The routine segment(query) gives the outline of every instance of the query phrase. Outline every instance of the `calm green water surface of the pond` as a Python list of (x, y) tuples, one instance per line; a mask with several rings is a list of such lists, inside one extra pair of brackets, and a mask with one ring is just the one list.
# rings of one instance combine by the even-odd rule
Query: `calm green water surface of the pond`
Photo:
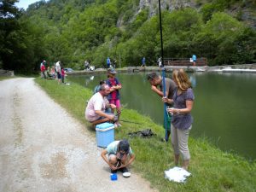
[[(171, 73), (166, 74), (171, 77)], [(218, 148), (234, 151), (247, 159), (256, 158), (256, 74), (191, 73), (194, 84), (193, 137), (208, 137)], [(121, 103), (163, 122), (163, 104), (146, 79), (146, 73), (117, 74), (122, 84)], [(106, 74), (68, 76), (94, 89)]]

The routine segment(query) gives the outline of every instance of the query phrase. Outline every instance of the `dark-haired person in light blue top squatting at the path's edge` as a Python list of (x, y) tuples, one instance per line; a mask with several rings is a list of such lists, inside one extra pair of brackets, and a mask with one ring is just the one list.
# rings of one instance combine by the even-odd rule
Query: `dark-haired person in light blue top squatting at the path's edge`
[(108, 147), (102, 151), (102, 158), (108, 163), (111, 173), (116, 173), (118, 170), (128, 172), (127, 166), (135, 160), (135, 154), (133, 154), (129, 142), (123, 139), (108, 144)]

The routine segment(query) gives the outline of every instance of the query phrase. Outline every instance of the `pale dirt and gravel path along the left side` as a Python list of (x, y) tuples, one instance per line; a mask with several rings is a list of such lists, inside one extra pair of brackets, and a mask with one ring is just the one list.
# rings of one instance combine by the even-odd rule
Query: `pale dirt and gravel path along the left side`
[(0, 191), (153, 191), (132, 174), (109, 178), (102, 148), (33, 79), (0, 81)]

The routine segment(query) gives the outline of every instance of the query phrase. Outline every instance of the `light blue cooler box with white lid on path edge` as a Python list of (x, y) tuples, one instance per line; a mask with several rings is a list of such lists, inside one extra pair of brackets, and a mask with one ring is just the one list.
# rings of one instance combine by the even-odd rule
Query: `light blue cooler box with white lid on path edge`
[(114, 141), (114, 125), (110, 123), (96, 125), (96, 141), (98, 147), (107, 148), (108, 144)]

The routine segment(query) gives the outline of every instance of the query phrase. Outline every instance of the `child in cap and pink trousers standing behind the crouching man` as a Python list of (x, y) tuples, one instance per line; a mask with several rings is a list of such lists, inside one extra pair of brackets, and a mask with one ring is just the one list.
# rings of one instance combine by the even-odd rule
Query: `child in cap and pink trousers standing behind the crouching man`
[[(110, 87), (110, 94), (108, 95), (108, 101), (111, 104), (116, 106), (116, 111), (118, 114), (118, 119), (121, 113), (121, 104), (120, 104), (120, 95), (119, 90), (122, 89), (122, 84), (120, 84), (119, 80), (115, 78), (116, 71), (114, 69), (108, 69), (108, 80), (107, 84)], [(114, 108), (112, 109), (112, 113), (114, 113)], [(117, 126), (121, 126), (119, 121), (116, 122)]]

